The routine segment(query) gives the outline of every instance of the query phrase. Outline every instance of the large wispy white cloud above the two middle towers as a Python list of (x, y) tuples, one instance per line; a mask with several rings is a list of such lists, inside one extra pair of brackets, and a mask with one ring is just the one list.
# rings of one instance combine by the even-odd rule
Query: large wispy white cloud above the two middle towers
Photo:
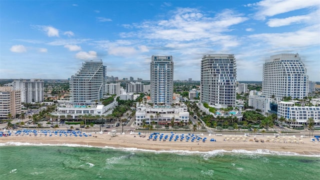
[[(132, 26), (141, 29), (138, 34), (141, 38), (191, 41), (224, 36), (222, 33), (231, 31), (231, 26), (248, 19), (242, 17), (243, 14), (230, 9), (223, 9), (214, 17), (207, 17), (194, 8), (177, 8), (172, 13), (171, 18), (167, 20), (144, 21), (141, 24), (132, 24)], [(125, 26), (128, 27), (127, 24)], [(128, 32), (120, 35), (130, 37), (135, 34)]]

